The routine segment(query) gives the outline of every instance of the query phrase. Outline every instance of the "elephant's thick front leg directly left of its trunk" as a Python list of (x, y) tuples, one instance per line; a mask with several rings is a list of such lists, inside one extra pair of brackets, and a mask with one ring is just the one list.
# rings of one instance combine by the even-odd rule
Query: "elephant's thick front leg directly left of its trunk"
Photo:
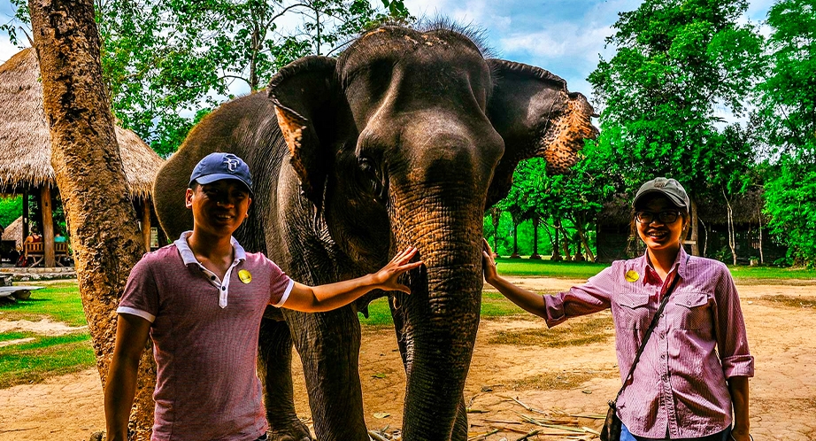
[(303, 360), (315, 435), (320, 441), (368, 441), (357, 313), (350, 307), (328, 313), (283, 313)]

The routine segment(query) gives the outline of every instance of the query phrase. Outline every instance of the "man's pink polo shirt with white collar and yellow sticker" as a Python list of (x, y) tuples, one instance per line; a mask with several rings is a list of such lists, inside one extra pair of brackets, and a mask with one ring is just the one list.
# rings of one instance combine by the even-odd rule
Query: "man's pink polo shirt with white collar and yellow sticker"
[(151, 322), (158, 367), (151, 439), (255, 440), (267, 429), (258, 327), (266, 306), (282, 306), (294, 282), (235, 239), (235, 261), (221, 281), (196, 260), (189, 234), (144, 255), (117, 310)]

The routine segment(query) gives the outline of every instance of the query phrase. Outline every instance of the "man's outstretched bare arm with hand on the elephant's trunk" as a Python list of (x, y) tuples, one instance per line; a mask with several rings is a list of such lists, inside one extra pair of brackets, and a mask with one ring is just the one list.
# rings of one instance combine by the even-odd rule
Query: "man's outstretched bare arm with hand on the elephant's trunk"
[(396, 290), (411, 294), (411, 290), (396, 282), (396, 278), (422, 265), (421, 260), (408, 263), (416, 253), (417, 249), (413, 247), (397, 253), (388, 265), (373, 275), (314, 287), (295, 282), (282, 307), (304, 313), (319, 313), (346, 306), (370, 290)]

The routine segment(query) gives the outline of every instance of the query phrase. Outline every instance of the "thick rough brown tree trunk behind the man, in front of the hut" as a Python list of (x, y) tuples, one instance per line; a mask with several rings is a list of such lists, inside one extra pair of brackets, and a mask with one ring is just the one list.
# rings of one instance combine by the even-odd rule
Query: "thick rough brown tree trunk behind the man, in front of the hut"
[[(127, 194), (111, 104), (102, 78), (92, 0), (30, 0), (40, 61), (51, 165), (71, 228), (82, 307), (104, 383), (113, 352), (116, 307), (142, 237)], [(148, 439), (155, 383), (151, 353), (142, 355), (131, 439)]]

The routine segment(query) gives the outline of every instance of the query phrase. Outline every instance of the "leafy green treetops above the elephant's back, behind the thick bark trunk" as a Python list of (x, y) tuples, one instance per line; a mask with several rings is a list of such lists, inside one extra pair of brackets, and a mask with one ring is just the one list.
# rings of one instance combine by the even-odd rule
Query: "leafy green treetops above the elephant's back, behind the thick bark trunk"
[[(12, 0), (28, 22), (25, 0)], [(402, 0), (96, 0), (103, 36), (104, 78), (113, 111), (161, 155), (175, 151), (188, 131), (235, 81), (251, 91), (282, 66), (310, 54), (334, 54), (366, 27), (412, 19)], [(280, 22), (297, 14), (294, 29)], [(0, 27), (16, 41), (15, 27)]]

